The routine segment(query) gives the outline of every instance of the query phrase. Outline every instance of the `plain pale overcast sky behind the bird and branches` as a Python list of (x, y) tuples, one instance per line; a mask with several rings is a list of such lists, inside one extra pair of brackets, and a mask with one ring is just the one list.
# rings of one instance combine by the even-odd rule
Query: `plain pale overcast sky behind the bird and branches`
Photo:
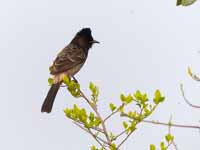
[[(175, 0), (7, 0), (0, 5), (1, 109), (0, 149), (80, 150), (95, 141), (64, 116), (75, 100), (64, 88), (53, 112), (42, 114), (49, 89), (48, 67), (77, 31), (91, 27), (101, 44), (95, 45), (77, 74), (86, 94), (93, 81), (100, 87), (100, 111), (119, 103), (120, 93), (137, 89), (150, 96), (160, 89), (166, 96), (152, 120), (199, 125), (200, 110), (190, 108), (186, 95), (200, 105), (200, 86), (186, 73), (200, 72), (200, 2), (176, 7)], [(110, 129), (121, 125), (113, 120)], [(122, 149), (147, 150), (167, 133), (166, 127), (143, 124)], [(200, 132), (173, 129), (180, 150), (198, 149)]]

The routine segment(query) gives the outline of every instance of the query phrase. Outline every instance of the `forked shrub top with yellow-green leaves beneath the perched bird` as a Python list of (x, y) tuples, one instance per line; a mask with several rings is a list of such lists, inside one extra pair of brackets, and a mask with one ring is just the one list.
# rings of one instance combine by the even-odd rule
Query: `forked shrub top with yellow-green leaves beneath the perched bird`
[[(92, 146), (91, 150), (119, 150), (121, 145), (128, 139), (128, 137), (137, 129), (138, 123), (141, 123), (145, 118), (149, 117), (156, 107), (164, 101), (164, 97), (159, 90), (154, 93), (153, 100), (150, 101), (146, 93), (136, 91), (129, 95), (120, 95), (120, 106), (116, 106), (112, 102), (109, 103), (111, 113), (103, 118), (97, 108), (99, 89), (93, 83), (89, 84), (91, 97), (87, 98), (80, 90), (80, 85), (69, 79), (64, 79), (64, 84), (67, 86), (68, 91), (75, 97), (82, 97), (85, 102), (91, 107), (93, 112), (88, 112), (85, 108), (80, 108), (74, 104), (73, 108), (66, 108), (65, 115), (73, 120), (81, 129), (87, 131), (101, 146), (100, 149)], [(129, 109), (133, 104), (133, 108)], [(120, 114), (120, 117), (127, 117), (128, 121), (123, 121), (123, 130), (121, 133), (113, 133), (107, 130), (107, 123), (112, 116)], [(112, 122), (111, 122), (112, 123)], [(119, 137), (122, 137), (119, 140)], [(114, 141), (116, 143), (114, 143)]]

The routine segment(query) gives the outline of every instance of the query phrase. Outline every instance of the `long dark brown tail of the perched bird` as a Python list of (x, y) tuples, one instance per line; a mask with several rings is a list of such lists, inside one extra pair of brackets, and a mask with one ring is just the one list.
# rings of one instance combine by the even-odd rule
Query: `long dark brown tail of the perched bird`
[(45, 98), (44, 103), (42, 104), (41, 112), (46, 112), (46, 113), (51, 112), (54, 100), (56, 98), (56, 94), (58, 93), (61, 83), (62, 82), (52, 84), (47, 94), (47, 97)]

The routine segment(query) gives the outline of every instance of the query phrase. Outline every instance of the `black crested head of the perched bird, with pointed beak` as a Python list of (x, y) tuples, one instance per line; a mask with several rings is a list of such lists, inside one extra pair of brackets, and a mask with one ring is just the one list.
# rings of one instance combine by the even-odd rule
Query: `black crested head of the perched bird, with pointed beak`
[(90, 28), (83, 28), (76, 34), (71, 43), (77, 44), (85, 50), (89, 50), (94, 43), (99, 42), (93, 39)]

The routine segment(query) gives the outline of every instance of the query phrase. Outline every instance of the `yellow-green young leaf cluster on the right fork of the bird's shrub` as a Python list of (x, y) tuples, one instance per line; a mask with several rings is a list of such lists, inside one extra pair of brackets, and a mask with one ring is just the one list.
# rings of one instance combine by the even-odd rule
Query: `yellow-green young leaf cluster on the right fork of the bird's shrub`
[[(122, 103), (125, 103), (126, 106), (135, 102), (136, 106), (139, 109), (132, 109), (128, 112), (121, 112), (121, 116), (128, 117), (128, 121), (123, 122), (123, 127), (126, 130), (126, 133), (129, 134), (136, 129), (136, 125), (142, 122), (145, 118), (149, 117), (155, 108), (164, 101), (164, 97), (161, 95), (159, 90), (156, 90), (154, 93), (153, 104), (149, 102), (149, 98), (146, 93), (141, 91), (136, 91), (134, 94), (129, 94), (128, 96), (121, 95)], [(135, 107), (134, 107), (135, 108)]]

